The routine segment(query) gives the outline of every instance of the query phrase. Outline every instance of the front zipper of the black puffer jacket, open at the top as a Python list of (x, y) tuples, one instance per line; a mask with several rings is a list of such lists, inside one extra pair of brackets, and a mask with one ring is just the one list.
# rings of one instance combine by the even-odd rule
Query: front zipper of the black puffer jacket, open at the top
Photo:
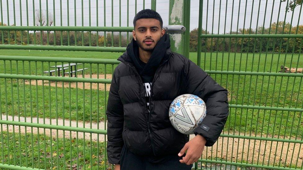
[[(153, 78), (153, 81), (152, 81), (152, 87), (153, 87), (153, 84), (154, 84), (156, 78), (158, 77), (158, 73), (160, 72), (160, 69), (162, 68), (162, 65), (163, 65), (166, 61), (168, 61), (169, 59), (170, 59), (170, 57), (169, 57), (167, 60), (165, 60), (162, 64), (159, 65), (158, 69), (157, 69), (156, 72), (155, 72), (155, 76), (154, 76), (154, 78)], [(124, 63), (124, 62), (123, 62), (123, 63)], [(126, 63), (126, 62), (125, 62), (125, 64), (128, 65), (130, 68), (132, 68), (132, 69), (134, 70), (134, 72), (136, 73), (136, 75), (139, 77), (139, 80), (140, 80), (140, 83), (141, 83), (141, 92), (142, 92), (143, 81), (142, 81), (141, 76), (140, 76), (139, 73), (137, 72), (136, 68), (134, 68), (133, 66), (129, 65), (129, 64)], [(151, 95), (150, 95), (149, 101), (148, 101), (149, 104), (151, 104), (151, 97), (152, 97), (152, 88), (151, 88)], [(144, 104), (145, 104), (144, 109), (145, 109), (145, 111), (146, 111), (146, 110), (148, 111), (147, 105), (146, 105), (147, 101), (146, 101), (145, 97), (143, 97), (143, 99), (144, 99), (144, 101), (145, 101), (145, 103), (144, 103)], [(152, 133), (151, 133), (151, 129), (150, 129), (150, 119), (151, 119), (151, 112), (149, 111), (149, 113), (148, 113), (148, 118), (147, 118), (147, 129), (148, 129), (149, 138), (151, 139), (152, 152), (153, 152), (154, 155), (156, 155), (156, 153), (155, 153), (154, 141), (153, 141)]]

